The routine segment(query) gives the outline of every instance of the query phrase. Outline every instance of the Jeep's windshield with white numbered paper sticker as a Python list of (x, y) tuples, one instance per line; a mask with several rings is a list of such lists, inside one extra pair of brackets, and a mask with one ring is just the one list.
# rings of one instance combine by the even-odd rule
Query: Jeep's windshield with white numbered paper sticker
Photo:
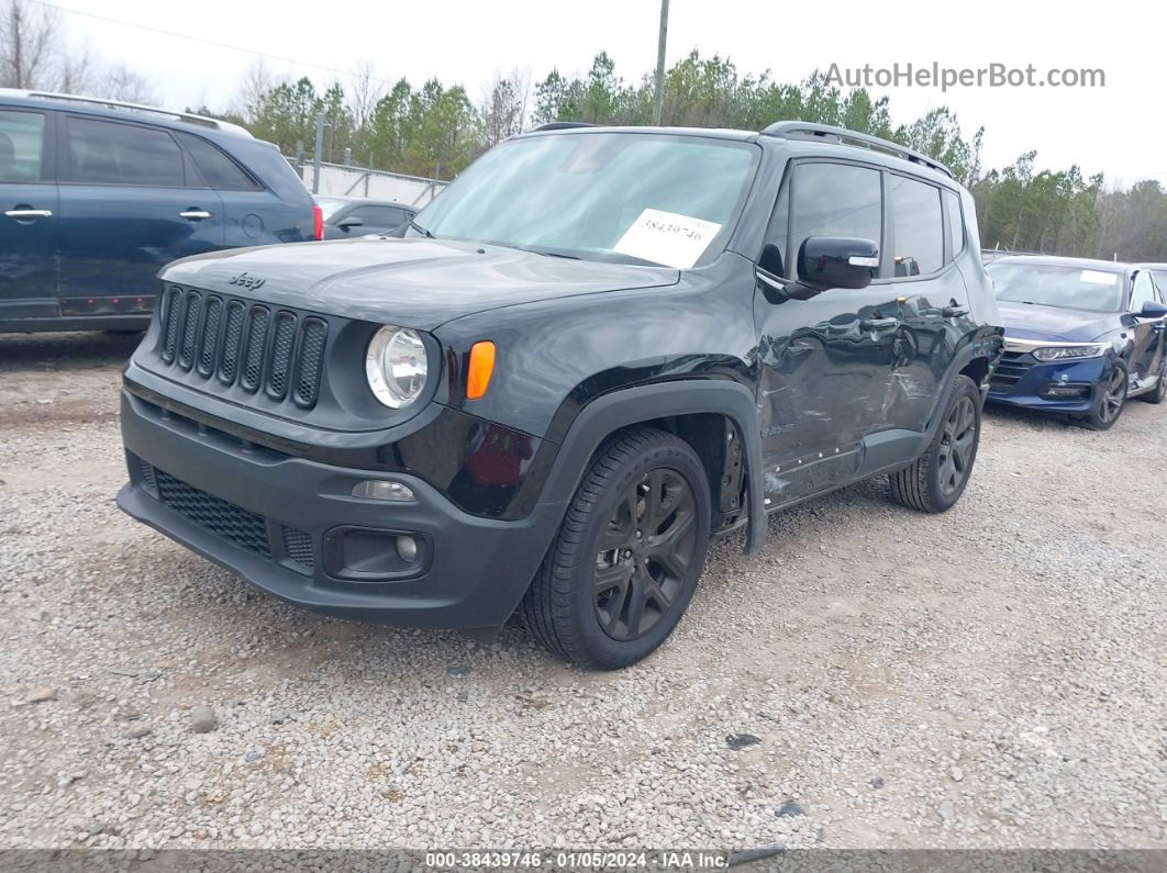
[(725, 247), (757, 155), (745, 142), (696, 136), (512, 140), (476, 161), (417, 223), (439, 238), (687, 268)]

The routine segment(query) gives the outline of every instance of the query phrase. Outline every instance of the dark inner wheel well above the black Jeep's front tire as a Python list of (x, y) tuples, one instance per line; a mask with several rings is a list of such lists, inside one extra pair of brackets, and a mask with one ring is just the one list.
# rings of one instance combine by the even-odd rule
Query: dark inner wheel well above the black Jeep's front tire
[(701, 459), (710, 483), (714, 529), (738, 520), (745, 511), (747, 462), (741, 431), (729, 416), (721, 413), (692, 413), (636, 422), (609, 434), (596, 453), (613, 439), (637, 428), (664, 430), (689, 443)]

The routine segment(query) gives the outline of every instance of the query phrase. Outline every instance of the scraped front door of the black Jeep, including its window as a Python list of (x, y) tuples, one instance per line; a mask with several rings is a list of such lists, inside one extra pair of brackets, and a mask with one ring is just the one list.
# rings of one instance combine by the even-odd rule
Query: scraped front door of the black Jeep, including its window
[[(882, 228), (879, 170), (798, 163), (783, 183), (759, 266), (792, 279), (789, 261), (808, 237), (880, 244)], [(861, 469), (864, 438), (888, 427), (900, 312), (892, 283), (832, 288), (809, 300), (766, 282), (759, 288), (760, 411), (767, 498), (775, 506), (834, 487)]]

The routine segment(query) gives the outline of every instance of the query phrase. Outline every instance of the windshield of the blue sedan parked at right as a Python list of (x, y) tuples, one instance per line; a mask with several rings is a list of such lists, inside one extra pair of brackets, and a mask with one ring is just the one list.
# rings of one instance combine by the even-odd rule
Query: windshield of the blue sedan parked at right
[(990, 263), (997, 300), (1042, 307), (1117, 312), (1123, 305), (1123, 275), (1049, 263)]

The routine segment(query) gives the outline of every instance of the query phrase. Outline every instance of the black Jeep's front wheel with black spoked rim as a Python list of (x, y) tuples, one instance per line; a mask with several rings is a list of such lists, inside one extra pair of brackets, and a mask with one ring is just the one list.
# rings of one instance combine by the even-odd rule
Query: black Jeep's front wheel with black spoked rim
[(705, 467), (651, 428), (602, 448), (523, 598), (548, 652), (613, 670), (648, 656), (689, 607), (710, 542)]

